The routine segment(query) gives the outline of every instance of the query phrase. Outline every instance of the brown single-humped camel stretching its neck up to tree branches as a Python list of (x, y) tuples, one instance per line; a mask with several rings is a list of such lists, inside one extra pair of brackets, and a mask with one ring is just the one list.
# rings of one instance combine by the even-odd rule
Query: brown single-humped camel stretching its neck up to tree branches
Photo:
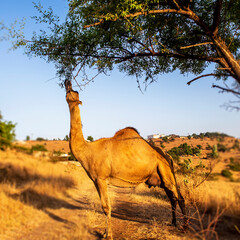
[(112, 138), (86, 142), (82, 133), (78, 92), (72, 90), (70, 81), (65, 82), (65, 87), (71, 122), (70, 148), (98, 191), (107, 218), (107, 239), (112, 239), (108, 184), (129, 187), (146, 183), (149, 187), (164, 188), (172, 205), (172, 224), (176, 225), (177, 203), (184, 217), (186, 214), (170, 157), (161, 149), (152, 147), (130, 127), (118, 131)]

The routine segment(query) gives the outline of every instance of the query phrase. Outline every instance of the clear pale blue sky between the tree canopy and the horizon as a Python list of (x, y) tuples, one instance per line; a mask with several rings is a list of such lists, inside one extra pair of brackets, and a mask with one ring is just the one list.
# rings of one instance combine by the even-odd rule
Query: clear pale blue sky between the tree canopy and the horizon
[[(66, 0), (44, 0), (64, 17)], [(9, 24), (27, 18), (28, 36), (38, 28), (30, 16), (36, 14), (32, 0), (2, 1), (0, 21)], [(0, 32), (1, 34), (1, 32)], [(23, 50), (9, 51), (10, 43), (0, 42), (0, 111), (4, 120), (17, 123), (17, 139), (64, 138), (69, 133), (69, 111), (65, 90), (58, 86), (55, 68), (43, 59), (28, 58)], [(206, 73), (210, 73), (207, 69)], [(136, 80), (115, 69), (98, 76), (80, 92), (85, 137), (110, 137), (126, 126), (138, 129), (143, 137), (153, 133), (188, 135), (223, 132), (240, 137), (240, 113), (221, 107), (234, 100), (230, 94), (211, 88), (213, 78), (188, 86), (195, 76), (178, 72), (159, 75), (143, 94)], [(78, 79), (80, 81), (80, 79)], [(220, 84), (220, 82), (219, 82)], [(76, 90), (78, 90), (76, 88)]]

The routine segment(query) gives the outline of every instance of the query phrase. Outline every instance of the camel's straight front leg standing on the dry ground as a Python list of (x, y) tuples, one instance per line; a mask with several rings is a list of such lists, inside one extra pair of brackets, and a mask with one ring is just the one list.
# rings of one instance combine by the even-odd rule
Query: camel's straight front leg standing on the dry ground
[(111, 225), (111, 204), (108, 196), (108, 188), (106, 180), (97, 179), (95, 181), (103, 211), (107, 218), (106, 238), (112, 240), (112, 225)]

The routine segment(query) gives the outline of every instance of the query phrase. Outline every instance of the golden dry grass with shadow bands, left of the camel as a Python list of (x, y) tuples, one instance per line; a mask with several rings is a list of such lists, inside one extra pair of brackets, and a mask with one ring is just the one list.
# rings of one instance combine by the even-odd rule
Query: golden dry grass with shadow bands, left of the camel
[[(82, 181), (76, 177), (76, 171), (75, 165), (53, 164), (23, 153), (0, 151), (0, 239), (16, 239), (41, 226), (43, 221), (50, 221), (49, 209), (74, 208), (67, 196)], [(75, 235), (86, 235), (86, 230), (82, 230), (80, 222), (73, 226), (71, 237), (60, 239), (77, 239)], [(59, 234), (46, 239), (59, 239)]]

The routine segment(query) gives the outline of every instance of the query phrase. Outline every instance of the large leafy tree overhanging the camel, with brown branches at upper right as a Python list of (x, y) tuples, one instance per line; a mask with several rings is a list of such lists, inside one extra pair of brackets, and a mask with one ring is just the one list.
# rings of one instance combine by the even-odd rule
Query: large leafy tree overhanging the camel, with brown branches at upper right
[[(49, 29), (31, 41), (19, 38), (17, 45), (55, 62), (63, 79), (85, 74), (87, 67), (106, 73), (117, 65), (148, 85), (179, 69), (198, 75), (188, 84), (232, 78), (232, 86), (224, 81), (213, 87), (233, 93), (240, 109), (239, 0), (69, 0), (63, 23), (52, 9), (35, 7), (41, 14), (36, 21)], [(202, 74), (210, 63), (214, 72)]]

